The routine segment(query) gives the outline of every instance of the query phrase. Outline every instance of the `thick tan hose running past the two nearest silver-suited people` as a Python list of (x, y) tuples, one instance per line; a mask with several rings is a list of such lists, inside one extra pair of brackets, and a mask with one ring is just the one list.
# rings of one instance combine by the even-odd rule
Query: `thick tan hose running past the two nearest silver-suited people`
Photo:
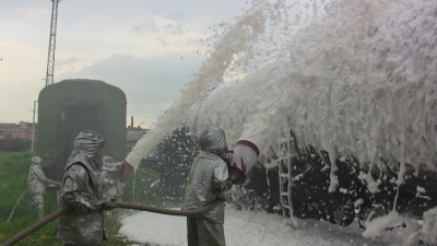
[[(122, 209), (133, 209), (133, 210), (140, 210), (140, 211), (149, 211), (149, 212), (154, 212), (154, 213), (162, 213), (162, 214), (168, 214), (168, 215), (176, 215), (176, 216), (196, 216), (203, 214), (210, 210), (212, 210), (215, 206), (217, 206), (221, 201), (215, 200), (211, 202), (210, 204), (197, 209), (197, 210), (174, 210), (174, 209), (162, 209), (162, 208), (156, 208), (152, 206), (145, 206), (145, 204), (135, 204), (135, 203), (129, 203), (129, 202), (119, 202), (119, 201), (106, 201), (104, 202), (105, 204), (108, 206), (116, 206), (117, 208), (122, 208)], [(10, 246), (13, 245), (24, 237), (31, 235), (32, 233), (36, 232), (38, 229), (43, 227), (47, 223), (54, 221), (55, 219), (61, 216), (62, 214), (67, 213), (69, 211), (68, 208), (61, 208), (58, 211), (43, 218), (40, 221), (36, 222), (35, 224), (31, 225), (26, 230), (22, 231), (21, 233), (16, 234), (9, 241), (4, 242), (1, 246)]]

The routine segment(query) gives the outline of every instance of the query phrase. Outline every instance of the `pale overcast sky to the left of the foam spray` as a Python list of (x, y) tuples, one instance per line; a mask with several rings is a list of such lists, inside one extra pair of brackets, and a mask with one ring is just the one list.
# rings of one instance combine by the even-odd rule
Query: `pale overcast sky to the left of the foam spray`
[[(63, 0), (55, 82), (96, 79), (120, 87), (134, 125), (149, 128), (205, 59), (213, 25), (244, 0)], [(45, 86), (50, 0), (0, 1), (0, 122), (33, 121)], [(203, 42), (202, 42), (203, 40)]]

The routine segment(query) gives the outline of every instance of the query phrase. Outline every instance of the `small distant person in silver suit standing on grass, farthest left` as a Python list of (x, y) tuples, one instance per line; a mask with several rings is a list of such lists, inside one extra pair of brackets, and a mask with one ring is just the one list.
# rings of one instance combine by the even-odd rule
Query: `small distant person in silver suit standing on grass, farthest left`
[(39, 156), (33, 156), (27, 175), (27, 192), (31, 197), (31, 208), (37, 209), (39, 220), (44, 218), (44, 195), (46, 194), (46, 186), (56, 184), (54, 180), (46, 178), (43, 167), (40, 166), (42, 161)]

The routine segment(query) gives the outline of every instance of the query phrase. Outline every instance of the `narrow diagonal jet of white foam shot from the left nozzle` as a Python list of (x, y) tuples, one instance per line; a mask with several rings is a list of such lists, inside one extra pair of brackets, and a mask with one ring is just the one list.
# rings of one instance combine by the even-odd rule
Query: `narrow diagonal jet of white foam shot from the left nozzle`
[[(214, 45), (214, 50), (193, 79), (187, 83), (181, 95), (170, 108), (160, 116), (156, 125), (145, 134), (128, 154), (126, 161), (134, 168), (163, 138), (176, 127), (187, 120), (187, 114), (197, 108), (200, 102), (205, 101), (209, 92), (226, 81), (226, 74), (237, 62), (237, 54), (246, 54), (251, 50), (259, 35), (265, 28), (268, 16), (263, 15), (263, 1), (253, 1), (253, 5), (247, 10), (234, 25)], [(252, 51), (251, 51), (252, 52)], [(241, 62), (241, 61), (238, 61)]]

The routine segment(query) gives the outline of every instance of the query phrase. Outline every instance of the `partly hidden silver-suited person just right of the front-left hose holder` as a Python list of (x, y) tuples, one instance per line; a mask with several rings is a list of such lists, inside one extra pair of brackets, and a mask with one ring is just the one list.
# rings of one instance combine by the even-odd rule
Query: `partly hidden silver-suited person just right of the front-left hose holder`
[(117, 167), (121, 165), (121, 163), (115, 163), (111, 156), (104, 156), (102, 162), (103, 197), (105, 200), (121, 201), (123, 188), (117, 175)]

